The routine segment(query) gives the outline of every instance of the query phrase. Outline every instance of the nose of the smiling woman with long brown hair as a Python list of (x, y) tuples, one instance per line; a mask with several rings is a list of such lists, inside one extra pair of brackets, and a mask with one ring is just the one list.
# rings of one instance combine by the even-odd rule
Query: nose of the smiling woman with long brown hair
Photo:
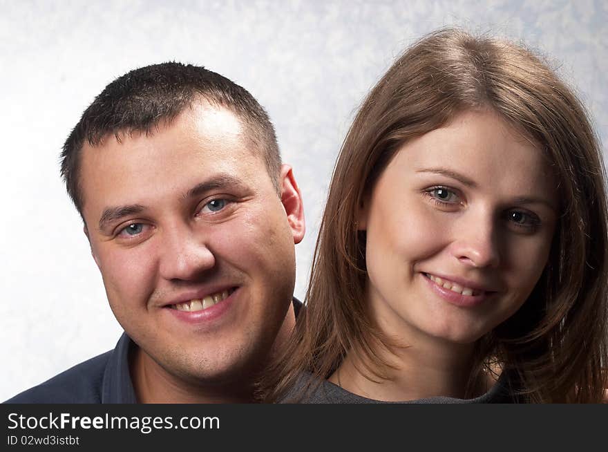
[(453, 229), (453, 256), (471, 267), (497, 267), (500, 264), (498, 227), (489, 211), (467, 212)]

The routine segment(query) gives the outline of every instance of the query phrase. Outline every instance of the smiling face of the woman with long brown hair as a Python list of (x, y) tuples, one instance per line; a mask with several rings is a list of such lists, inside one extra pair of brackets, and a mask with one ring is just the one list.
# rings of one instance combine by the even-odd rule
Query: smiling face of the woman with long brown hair
[(489, 111), (401, 147), (359, 214), (372, 315), (406, 343), (471, 343), (526, 301), (547, 263), (557, 185)]

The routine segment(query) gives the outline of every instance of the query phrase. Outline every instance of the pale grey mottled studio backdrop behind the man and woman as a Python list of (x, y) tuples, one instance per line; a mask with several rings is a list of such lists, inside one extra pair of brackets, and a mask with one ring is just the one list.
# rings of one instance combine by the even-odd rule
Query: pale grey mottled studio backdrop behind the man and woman
[(178, 60), (258, 98), (303, 191), (302, 297), (327, 182), (363, 95), (406, 45), (450, 24), (542, 50), (608, 140), (605, 0), (0, 0), (0, 400), (120, 335), (58, 170), (61, 144), (108, 82)]

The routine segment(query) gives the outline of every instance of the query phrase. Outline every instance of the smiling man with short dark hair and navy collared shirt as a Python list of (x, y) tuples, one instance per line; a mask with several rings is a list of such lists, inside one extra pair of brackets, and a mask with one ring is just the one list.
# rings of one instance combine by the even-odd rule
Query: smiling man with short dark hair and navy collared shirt
[(253, 401), (294, 326), (305, 229), (264, 109), (205, 68), (147, 66), (95, 98), (62, 159), (125, 334), (8, 402)]

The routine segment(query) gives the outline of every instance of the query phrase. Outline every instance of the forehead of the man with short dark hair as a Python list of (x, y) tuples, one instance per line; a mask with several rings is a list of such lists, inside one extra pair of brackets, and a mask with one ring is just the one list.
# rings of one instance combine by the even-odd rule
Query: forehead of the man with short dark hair
[[(120, 198), (129, 192), (161, 191), (154, 187), (155, 180), (156, 185), (189, 189), (216, 173), (230, 174), (234, 182), (247, 181), (260, 169), (265, 170), (259, 153), (251, 151), (251, 144), (243, 140), (242, 121), (231, 111), (208, 103), (185, 110), (153, 133), (119, 138), (84, 147), (84, 205), (96, 194)], [(98, 206), (99, 201), (95, 202)], [(122, 204), (122, 200), (117, 201)]]

